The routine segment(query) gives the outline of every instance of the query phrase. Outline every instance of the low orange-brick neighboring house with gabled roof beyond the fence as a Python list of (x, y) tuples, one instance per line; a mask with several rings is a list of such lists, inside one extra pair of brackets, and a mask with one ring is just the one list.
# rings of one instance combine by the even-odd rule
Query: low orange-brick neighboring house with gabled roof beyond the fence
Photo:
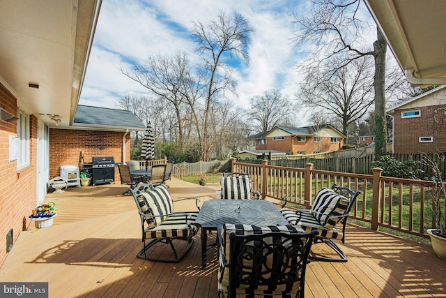
[(279, 151), (289, 154), (315, 154), (342, 149), (346, 136), (329, 124), (321, 126), (276, 126), (268, 132), (249, 137), (256, 150)]

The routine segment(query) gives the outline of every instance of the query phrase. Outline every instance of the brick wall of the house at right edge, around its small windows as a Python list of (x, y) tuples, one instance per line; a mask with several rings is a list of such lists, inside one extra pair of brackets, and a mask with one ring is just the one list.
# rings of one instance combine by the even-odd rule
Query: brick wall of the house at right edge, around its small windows
[[(394, 153), (417, 154), (446, 151), (446, 105), (417, 107), (421, 117), (401, 119), (403, 109), (394, 112)], [(431, 143), (420, 143), (419, 137), (433, 137)]]

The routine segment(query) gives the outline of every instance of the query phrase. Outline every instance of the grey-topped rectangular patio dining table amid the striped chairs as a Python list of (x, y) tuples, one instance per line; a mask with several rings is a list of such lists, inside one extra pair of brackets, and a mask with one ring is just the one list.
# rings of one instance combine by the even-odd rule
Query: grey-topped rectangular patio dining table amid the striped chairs
[(201, 227), (201, 268), (206, 268), (208, 232), (224, 223), (245, 225), (289, 225), (275, 204), (265, 200), (208, 200), (203, 202), (195, 223)]

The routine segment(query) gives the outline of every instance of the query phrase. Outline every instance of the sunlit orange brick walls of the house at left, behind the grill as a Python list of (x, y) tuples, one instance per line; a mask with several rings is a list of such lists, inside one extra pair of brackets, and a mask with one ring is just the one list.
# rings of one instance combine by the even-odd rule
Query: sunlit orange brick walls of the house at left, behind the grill
[[(17, 114), (17, 98), (0, 82), (0, 107), (9, 114)], [(101, 108), (98, 108), (101, 110)], [(107, 111), (106, 111), (107, 112)], [(113, 111), (112, 111), (113, 112)], [(117, 111), (118, 112), (118, 111)], [(125, 111), (121, 111), (125, 112)], [(128, 112), (128, 111), (127, 111)], [(98, 118), (98, 117), (96, 117)], [(116, 120), (115, 120), (116, 121)], [(31, 224), (28, 217), (38, 202), (38, 129), (45, 126), (34, 114), (29, 114), (29, 162), (17, 170), (17, 160), (10, 161), (10, 136), (17, 137), (17, 121), (0, 121), (0, 234), (8, 234), (12, 230), (15, 242), (20, 232), (27, 230)], [(141, 124), (144, 129), (144, 125)], [(82, 166), (81, 152), (84, 153), (84, 162), (91, 162), (93, 156), (114, 156), (116, 163), (130, 161), (130, 133), (128, 131), (106, 131), (48, 128), (48, 154), (49, 177), (43, 177), (41, 182), (60, 175), (61, 165)], [(112, 130), (112, 128), (111, 128)], [(125, 152), (125, 157), (124, 153)], [(115, 168), (115, 181), (119, 183), (120, 177)], [(18, 191), (20, 190), (20, 191)], [(45, 191), (46, 193), (46, 191)], [(0, 247), (0, 264), (7, 255), (6, 246)]]

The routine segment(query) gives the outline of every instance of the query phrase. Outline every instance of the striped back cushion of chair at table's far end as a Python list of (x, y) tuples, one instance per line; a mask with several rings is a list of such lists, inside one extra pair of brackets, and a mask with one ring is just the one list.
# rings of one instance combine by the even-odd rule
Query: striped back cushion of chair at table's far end
[(222, 199), (251, 200), (251, 183), (249, 175), (239, 175), (220, 178)]

